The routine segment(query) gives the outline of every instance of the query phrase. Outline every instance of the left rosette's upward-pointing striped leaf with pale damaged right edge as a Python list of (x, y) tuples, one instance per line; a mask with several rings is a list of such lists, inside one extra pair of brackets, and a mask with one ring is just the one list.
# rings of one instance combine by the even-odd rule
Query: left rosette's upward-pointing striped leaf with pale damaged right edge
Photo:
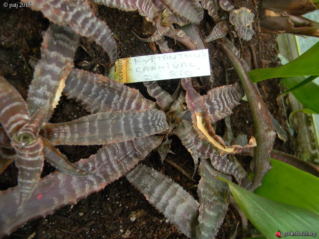
[[(51, 24), (43, 37), (41, 60), (37, 64), (29, 86), (27, 107), (31, 116), (48, 99), (50, 119), (73, 68), (73, 57), (78, 47), (79, 35), (69, 26)], [(46, 120), (46, 121), (47, 121)]]

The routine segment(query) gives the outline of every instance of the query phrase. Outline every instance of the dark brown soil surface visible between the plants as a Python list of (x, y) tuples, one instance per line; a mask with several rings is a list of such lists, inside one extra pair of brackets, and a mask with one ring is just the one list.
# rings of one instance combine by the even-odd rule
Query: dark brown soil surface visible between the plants
[[(15, 1), (8, 1), (8, 3), (15, 3)], [(255, 16), (258, 16), (261, 4), (257, 0), (236, 1), (236, 8), (241, 6), (251, 9)], [(158, 47), (144, 43), (134, 35), (133, 32), (142, 36), (143, 18), (137, 12), (123, 12), (96, 4), (92, 4), (92, 8), (96, 12), (96, 16), (105, 21), (114, 33), (113, 37), (120, 52), (119, 58), (160, 53)], [(205, 12), (205, 19), (198, 26), (202, 39), (205, 39), (209, 34), (206, 23), (212, 24), (207, 12)], [(25, 99), (27, 98), (28, 85), (32, 80), (34, 64), (41, 56), (41, 32), (46, 30), (48, 26), (49, 21), (40, 12), (34, 12), (29, 8), (9, 9), (0, 6), (0, 75), (14, 85)], [(234, 39), (235, 46), (239, 48), (242, 57), (248, 62), (251, 69), (277, 66), (278, 52), (275, 36), (263, 34), (260, 31), (257, 17), (255, 17), (254, 30), (256, 34), (249, 42), (239, 41), (238, 38)], [(167, 38), (167, 41), (174, 51), (187, 50), (178, 42), (175, 44), (174, 39)], [(237, 82), (237, 74), (218, 44), (208, 43), (207, 48), (210, 50), (214, 78), (213, 87)], [(109, 58), (99, 45), (91, 39), (82, 37), (75, 57), (75, 67), (107, 75)], [(195, 80), (198, 81), (198, 79)], [(172, 93), (178, 82), (178, 79), (161, 81), (160, 85)], [(145, 97), (151, 98), (147, 96), (146, 89), (142, 84), (129, 86), (139, 89)], [(258, 88), (269, 112), (288, 132), (284, 107), (282, 102), (276, 101), (276, 96), (280, 94), (277, 79), (263, 81), (258, 84)], [(203, 93), (202, 87), (196, 89)], [(240, 103), (231, 116), (233, 134), (235, 136), (246, 134), (250, 137), (253, 135), (253, 123), (248, 103), (245, 101)], [(51, 122), (69, 121), (87, 114), (80, 105), (62, 96)], [(217, 122), (215, 129), (216, 133), (222, 136), (225, 132), (224, 120)], [(288, 133), (287, 136), (286, 143), (277, 138), (274, 148), (293, 154), (293, 141)], [(190, 154), (177, 137), (172, 139), (171, 150), (174, 154), (168, 154), (167, 159), (183, 167), (191, 175), (193, 160)], [(87, 158), (94, 154), (98, 148), (98, 146), (59, 146), (59, 149), (68, 156), (71, 162)], [(249, 170), (250, 157), (236, 157)], [(164, 161), (161, 164), (160, 157), (156, 152), (148, 155), (143, 163), (170, 176), (196, 198), (195, 186), (200, 179), (198, 174), (194, 176), (196, 180), (194, 183), (167, 162)], [(46, 163), (42, 177), (54, 170), (54, 167)], [(6, 190), (16, 186), (16, 184), (17, 168), (12, 164), (0, 175), (0, 190)], [(134, 215), (137, 215), (135, 220), (133, 220)], [(230, 238), (235, 233), (239, 221), (240, 216), (236, 209), (229, 206), (229, 211), (217, 238)], [(254, 232), (253, 226), (250, 226), (247, 232), (242, 232), (239, 226), (237, 238), (249, 237), (252, 232)], [(121, 177), (106, 186), (104, 190), (93, 193), (86, 199), (81, 199), (76, 205), (66, 205), (55, 211), (53, 215), (34, 219), (4, 238), (183, 239), (187, 237), (179, 233), (160, 212), (150, 205), (125, 177)]]

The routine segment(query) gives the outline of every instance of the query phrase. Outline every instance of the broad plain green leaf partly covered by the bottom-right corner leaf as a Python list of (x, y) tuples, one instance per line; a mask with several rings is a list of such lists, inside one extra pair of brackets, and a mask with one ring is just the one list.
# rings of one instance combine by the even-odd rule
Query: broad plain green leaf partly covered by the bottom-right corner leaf
[(319, 178), (281, 161), (270, 161), (273, 168), (254, 193), (319, 215)]

